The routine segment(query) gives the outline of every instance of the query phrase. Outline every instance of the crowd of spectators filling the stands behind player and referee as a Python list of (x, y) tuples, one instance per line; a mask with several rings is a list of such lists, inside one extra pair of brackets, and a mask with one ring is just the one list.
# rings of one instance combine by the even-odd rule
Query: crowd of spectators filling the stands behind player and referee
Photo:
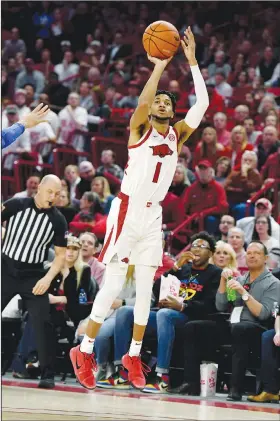
[[(137, 2), (44, 1), (16, 6), (3, 2), (2, 15), (2, 127), (11, 126), (40, 102), (51, 108), (46, 122), (27, 129), (4, 152), (2, 168), (11, 176), (17, 157), (38, 163), (26, 180), (26, 190), (14, 197), (34, 197), (42, 178), (40, 163), (53, 163), (54, 146), (89, 152), (89, 132), (108, 136), (108, 124), (119, 117), (128, 125), (151, 74), (142, 47), (150, 22), (167, 20), (181, 34), (191, 26), (210, 106), (180, 154), (162, 203), (162, 230), (166, 240), (187, 217), (194, 217), (191, 234), (199, 231), (199, 221), (205, 232), (176, 237), (171, 255), (163, 255), (163, 266), (155, 275), (146, 337), (157, 341), (157, 364), (144, 391), (199, 394), (200, 362), (215, 358), (221, 343), (229, 341), (229, 399), (241, 399), (249, 352), (255, 352), (261, 355), (263, 388), (249, 399), (278, 401), (280, 316), (274, 311), (274, 326), (272, 311), (275, 302), (280, 305), (275, 278), (279, 279), (280, 221), (273, 217), (275, 203), (265, 197), (251, 205), (250, 216), (245, 210), (248, 199), (280, 179), (279, 10), (273, 2), (248, 2), (246, 7), (244, 2), (155, 2), (150, 8), (149, 3)], [(180, 51), (164, 71), (160, 88), (175, 94), (176, 118), (195, 102), (190, 69)], [(66, 166), (57, 200), (72, 235), (49, 300), (52, 322), (69, 343), (83, 337), (92, 301), (102, 288), (104, 265), (96, 257), (125, 170), (118, 154), (107, 147), (99, 160), (96, 167), (93, 160)], [(175, 258), (187, 243), (189, 250)], [(190, 255), (199, 256), (192, 266)], [(49, 253), (45, 268), (53, 258)], [(159, 299), (163, 274), (181, 281), (183, 304)], [(134, 267), (129, 266), (125, 288), (95, 342), (101, 388), (129, 388), (121, 357), (131, 339), (134, 276)], [(229, 289), (236, 291), (234, 300)], [(13, 314), (17, 300), (5, 310), (6, 317)], [(213, 314), (224, 312), (231, 314), (231, 323), (213, 319)], [(176, 337), (184, 338), (185, 366), (184, 382), (174, 389), (169, 369)], [(13, 374), (29, 377), (36, 366), (36, 340), (28, 320), (12, 362)]]

